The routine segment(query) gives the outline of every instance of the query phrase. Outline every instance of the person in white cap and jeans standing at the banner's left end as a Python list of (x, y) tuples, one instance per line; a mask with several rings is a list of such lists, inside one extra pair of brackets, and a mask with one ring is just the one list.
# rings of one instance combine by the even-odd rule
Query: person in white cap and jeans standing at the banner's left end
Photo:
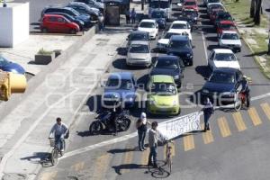
[(144, 139), (148, 130), (147, 124), (151, 124), (148, 120), (147, 120), (147, 116), (145, 112), (141, 112), (140, 113), (140, 117), (139, 120), (136, 123), (136, 127), (138, 130), (138, 136), (139, 136), (139, 150), (143, 151), (146, 148), (144, 147)]

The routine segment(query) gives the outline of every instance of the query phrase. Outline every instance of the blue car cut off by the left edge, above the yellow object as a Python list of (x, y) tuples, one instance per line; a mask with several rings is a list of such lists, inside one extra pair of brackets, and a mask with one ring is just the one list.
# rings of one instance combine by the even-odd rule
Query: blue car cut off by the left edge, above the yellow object
[(25, 70), (17, 63), (8, 61), (4, 57), (0, 56), (0, 69), (6, 72), (13, 72), (16, 74), (25, 74)]

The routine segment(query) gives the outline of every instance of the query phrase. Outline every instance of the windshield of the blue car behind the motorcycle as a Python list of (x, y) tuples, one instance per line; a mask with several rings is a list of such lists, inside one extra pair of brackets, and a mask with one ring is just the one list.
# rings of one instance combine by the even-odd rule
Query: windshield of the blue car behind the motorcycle
[(130, 79), (110, 78), (106, 88), (111, 89), (132, 89), (133, 84)]

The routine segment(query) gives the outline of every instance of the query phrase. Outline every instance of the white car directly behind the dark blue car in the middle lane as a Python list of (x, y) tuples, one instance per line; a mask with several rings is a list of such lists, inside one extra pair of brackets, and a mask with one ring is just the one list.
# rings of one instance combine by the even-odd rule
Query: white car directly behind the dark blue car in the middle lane
[(191, 26), (189, 23), (185, 21), (174, 21), (168, 32), (178, 33), (178, 34), (186, 34), (189, 37), (189, 40), (193, 40), (192, 34), (191, 34)]

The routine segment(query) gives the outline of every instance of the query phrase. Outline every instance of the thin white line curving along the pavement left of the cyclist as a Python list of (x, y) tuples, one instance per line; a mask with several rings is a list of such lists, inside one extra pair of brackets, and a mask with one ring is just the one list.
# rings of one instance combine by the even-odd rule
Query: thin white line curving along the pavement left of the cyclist
[(49, 108), (42, 113), (42, 115), (40, 116), (39, 119), (37, 119), (37, 121), (34, 121), (34, 123), (31, 125), (31, 127), (29, 128), (29, 130), (27, 130), (25, 132), (25, 134), (23, 134), (23, 136), (21, 137), (21, 139), (19, 139), (17, 141), (17, 143), (14, 145), (13, 148), (11, 148), (6, 154), (4, 154), (4, 157), (1, 160), (0, 163), (0, 179), (2, 179), (3, 175), (4, 175), (4, 166), (7, 163), (7, 160), (9, 159), (9, 157), (12, 157), (14, 155), (14, 152), (17, 148), (19, 148), (19, 146), (21, 146), (21, 144), (23, 143), (23, 141), (25, 139), (28, 138), (28, 136), (31, 134), (32, 130), (35, 130), (35, 128), (37, 127), (37, 125), (40, 123), (40, 121), (43, 120), (43, 118), (48, 114), (48, 112), (54, 108), (58, 103), (61, 103), (63, 100), (65, 100), (68, 96), (70, 96), (71, 94), (75, 93), (77, 90), (79, 90), (78, 88), (76, 88), (75, 90), (73, 90), (72, 92), (70, 92), (69, 94), (63, 96), (61, 99), (58, 100), (58, 102), (53, 103), (52, 105), (49, 106)]

